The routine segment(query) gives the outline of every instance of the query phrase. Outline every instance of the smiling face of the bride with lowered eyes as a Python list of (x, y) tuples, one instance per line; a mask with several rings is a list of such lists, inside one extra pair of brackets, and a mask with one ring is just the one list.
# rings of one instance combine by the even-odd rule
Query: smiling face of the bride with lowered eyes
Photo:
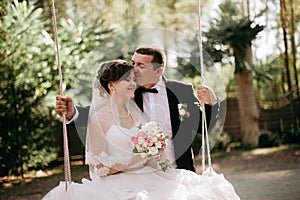
[(134, 96), (134, 91), (136, 89), (136, 82), (134, 71), (131, 70), (130, 75), (123, 80), (120, 80), (115, 85), (115, 95), (119, 97), (124, 97), (126, 99), (132, 98)]

